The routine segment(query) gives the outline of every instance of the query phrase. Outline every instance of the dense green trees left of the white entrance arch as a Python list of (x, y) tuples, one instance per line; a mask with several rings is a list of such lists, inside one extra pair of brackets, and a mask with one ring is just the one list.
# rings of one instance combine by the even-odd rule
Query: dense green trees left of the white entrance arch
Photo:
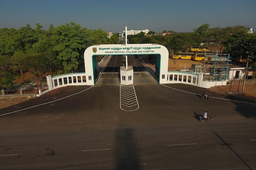
[[(95, 44), (116, 44), (118, 37), (108, 38), (98, 29), (82, 28), (75, 22), (43, 30), (40, 23), (35, 29), (29, 24), (16, 30), (0, 29), (0, 88), (13, 87), (15, 75), (30, 71), (42, 83), (46, 73), (68, 73), (83, 63), (84, 51)], [(11, 78), (9, 78), (11, 76)]]

